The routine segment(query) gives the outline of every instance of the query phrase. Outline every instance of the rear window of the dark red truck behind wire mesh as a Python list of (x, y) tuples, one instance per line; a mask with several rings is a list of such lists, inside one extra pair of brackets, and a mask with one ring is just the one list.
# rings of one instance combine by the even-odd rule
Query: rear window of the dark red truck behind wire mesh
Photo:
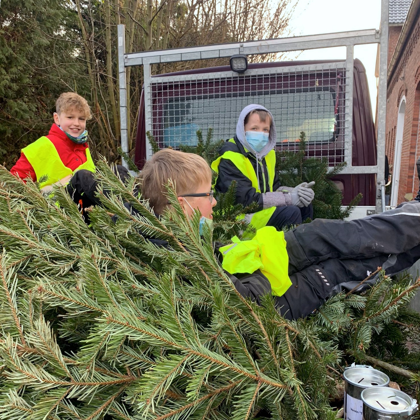
[(167, 97), (163, 106), (163, 145), (197, 144), (196, 131), (213, 128), (213, 140), (228, 139), (236, 132), (241, 110), (250, 103), (268, 108), (276, 122), (278, 144), (299, 140), (304, 131), (309, 143), (334, 140), (335, 90), (313, 87), (268, 92), (247, 92), (190, 97)]

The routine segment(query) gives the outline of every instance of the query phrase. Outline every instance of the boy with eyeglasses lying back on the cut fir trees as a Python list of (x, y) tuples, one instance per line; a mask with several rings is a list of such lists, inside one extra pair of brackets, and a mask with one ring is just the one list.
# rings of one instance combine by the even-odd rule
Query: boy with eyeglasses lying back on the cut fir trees
[[(191, 217), (198, 210), (201, 224), (211, 223), (216, 200), (206, 161), (192, 153), (164, 149), (146, 162), (142, 196), (157, 214), (170, 206), (165, 195), (168, 180), (173, 181), (185, 214)], [(341, 291), (360, 292), (372, 286), (377, 276), (360, 282), (378, 267), (391, 276), (409, 268), (420, 258), (419, 229), (420, 203), (413, 201), (403, 208), (349, 222), (315, 219), (285, 234), (264, 227), (257, 231), (260, 242), (252, 249), (253, 257), (263, 262), (260, 270), (249, 268), (247, 272), (242, 264), (239, 273), (235, 271), (235, 260), (243, 262), (241, 252), (255, 239), (216, 247), (215, 253), (223, 257), (222, 267), (242, 296), (259, 304), (260, 296), (271, 293), (280, 314), (297, 319)], [(267, 273), (270, 264), (278, 270)]]

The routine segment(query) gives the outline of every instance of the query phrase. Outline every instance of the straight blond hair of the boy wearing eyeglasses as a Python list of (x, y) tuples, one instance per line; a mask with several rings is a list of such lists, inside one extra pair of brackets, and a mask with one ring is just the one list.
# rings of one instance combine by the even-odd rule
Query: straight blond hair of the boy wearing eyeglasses
[(142, 196), (149, 199), (155, 213), (168, 207), (165, 185), (171, 180), (176, 195), (194, 194), (203, 182), (211, 182), (211, 169), (199, 155), (173, 149), (156, 152), (144, 164), (140, 175)]

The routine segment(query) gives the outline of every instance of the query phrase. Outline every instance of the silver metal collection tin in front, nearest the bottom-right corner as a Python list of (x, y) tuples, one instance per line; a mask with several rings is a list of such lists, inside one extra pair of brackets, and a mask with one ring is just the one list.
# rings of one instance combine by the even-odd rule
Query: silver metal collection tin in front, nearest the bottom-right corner
[(409, 420), (418, 409), (415, 399), (405, 392), (386, 386), (366, 388), (361, 397), (364, 420)]

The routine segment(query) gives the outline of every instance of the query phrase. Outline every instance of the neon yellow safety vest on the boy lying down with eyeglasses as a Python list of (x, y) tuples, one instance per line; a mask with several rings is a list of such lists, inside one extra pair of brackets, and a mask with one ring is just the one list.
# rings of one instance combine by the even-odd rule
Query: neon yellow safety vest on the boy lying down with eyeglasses
[(219, 248), (223, 269), (230, 274), (261, 270), (270, 281), (274, 296), (281, 296), (289, 289), (289, 257), (283, 231), (265, 226), (257, 230), (253, 239), (240, 241), (234, 236), (232, 241), (233, 244)]

